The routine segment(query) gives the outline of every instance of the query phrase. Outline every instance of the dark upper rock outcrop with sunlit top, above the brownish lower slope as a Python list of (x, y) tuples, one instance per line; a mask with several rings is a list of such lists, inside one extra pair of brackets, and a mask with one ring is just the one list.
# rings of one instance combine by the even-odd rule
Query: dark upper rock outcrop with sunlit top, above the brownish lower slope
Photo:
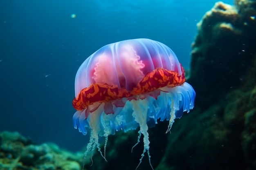
[(201, 107), (208, 108), (245, 81), (256, 51), (255, 3), (237, 0), (233, 7), (217, 2), (198, 23), (198, 35), (192, 45), (190, 81)]

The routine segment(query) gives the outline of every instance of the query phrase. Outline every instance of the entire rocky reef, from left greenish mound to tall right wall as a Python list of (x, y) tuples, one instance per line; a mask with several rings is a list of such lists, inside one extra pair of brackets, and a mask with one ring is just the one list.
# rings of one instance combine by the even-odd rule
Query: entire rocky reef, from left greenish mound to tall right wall
[[(155, 170), (256, 169), (256, 0), (217, 2), (198, 23), (192, 44), (189, 82), (197, 96), (191, 113), (149, 130)], [(84, 169), (135, 170), (143, 146), (137, 131), (108, 139), (106, 159), (99, 153)], [(1, 170), (79, 170), (83, 152), (55, 144), (36, 145), (18, 132), (0, 133)], [(150, 169), (145, 156), (137, 170)]]

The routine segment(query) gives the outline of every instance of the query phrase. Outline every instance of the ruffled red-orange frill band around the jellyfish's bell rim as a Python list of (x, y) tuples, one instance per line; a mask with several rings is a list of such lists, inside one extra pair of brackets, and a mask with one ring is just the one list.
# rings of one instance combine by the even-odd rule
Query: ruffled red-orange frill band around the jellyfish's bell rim
[(94, 102), (109, 102), (123, 97), (132, 97), (133, 95), (140, 95), (155, 91), (159, 88), (168, 86), (180, 86), (185, 82), (184, 68), (182, 68), (182, 75), (175, 71), (169, 71), (164, 68), (157, 68), (137, 84), (132, 91), (127, 91), (125, 88), (118, 88), (117, 85), (97, 84), (94, 83), (87, 88), (83, 88), (79, 95), (73, 100), (73, 107), (76, 110), (84, 110)]

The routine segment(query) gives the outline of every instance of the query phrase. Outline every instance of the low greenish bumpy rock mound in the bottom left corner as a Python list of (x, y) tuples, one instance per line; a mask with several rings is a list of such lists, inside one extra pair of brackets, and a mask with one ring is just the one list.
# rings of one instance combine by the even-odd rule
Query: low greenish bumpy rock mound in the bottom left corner
[(81, 165), (83, 153), (55, 144), (35, 145), (18, 132), (0, 133), (0, 170), (80, 170)]

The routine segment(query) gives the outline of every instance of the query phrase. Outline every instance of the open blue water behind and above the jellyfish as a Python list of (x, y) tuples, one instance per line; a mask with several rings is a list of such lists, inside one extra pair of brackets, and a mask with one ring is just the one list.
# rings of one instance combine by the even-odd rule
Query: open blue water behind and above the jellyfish
[(72, 99), (85, 58), (112, 42), (150, 38), (188, 69), (196, 24), (215, 2), (1, 0), (0, 131), (79, 150), (88, 137), (73, 128)]

